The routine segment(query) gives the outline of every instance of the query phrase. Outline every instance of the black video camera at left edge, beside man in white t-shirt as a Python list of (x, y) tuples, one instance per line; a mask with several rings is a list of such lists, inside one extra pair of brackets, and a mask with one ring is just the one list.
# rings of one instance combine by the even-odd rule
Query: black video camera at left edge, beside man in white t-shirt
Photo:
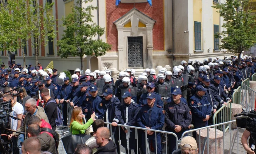
[(9, 114), (12, 112), (12, 100), (0, 103), (0, 129), (9, 128)]

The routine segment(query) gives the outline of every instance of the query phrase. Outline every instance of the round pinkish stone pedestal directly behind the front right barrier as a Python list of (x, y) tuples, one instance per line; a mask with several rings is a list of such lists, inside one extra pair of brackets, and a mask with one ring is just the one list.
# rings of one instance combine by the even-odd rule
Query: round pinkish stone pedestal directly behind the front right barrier
[[(201, 144), (201, 153), (203, 152), (204, 142), (206, 141), (206, 148), (204, 149), (203, 154), (207, 154), (207, 129), (203, 129), (200, 131), (196, 131), (196, 142), (197, 147), (199, 148), (199, 144)], [(199, 143), (199, 138), (201, 138), (201, 143)], [(209, 154), (223, 154), (223, 133), (220, 130), (216, 130), (216, 152), (215, 152), (215, 129), (209, 128)]]

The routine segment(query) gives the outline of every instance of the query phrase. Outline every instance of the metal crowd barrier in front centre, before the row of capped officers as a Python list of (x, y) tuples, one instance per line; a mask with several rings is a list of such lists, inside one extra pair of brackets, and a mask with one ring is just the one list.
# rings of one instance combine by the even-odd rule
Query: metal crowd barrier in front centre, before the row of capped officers
[[(114, 139), (115, 139), (115, 137), (113, 136), (114, 135), (114, 133), (113, 133), (113, 131), (112, 131), (112, 123), (107, 123), (107, 122), (104, 122), (105, 124), (107, 124), (108, 126), (109, 126), (109, 128), (110, 128), (110, 137), (113, 139), (113, 141), (114, 141)], [(178, 137), (177, 137), (177, 135), (175, 134), (175, 133), (173, 133), (173, 132), (166, 132), (166, 131), (160, 131), (160, 130), (151, 130), (151, 129), (147, 129), (147, 128), (141, 128), (141, 127), (135, 127), (135, 126), (128, 126), (128, 125), (121, 125), (121, 124), (117, 124), (117, 126), (116, 126), (116, 129), (118, 129), (118, 132), (119, 132), (119, 145), (121, 145), (121, 136), (120, 136), (120, 131), (123, 131), (122, 130), (122, 128), (120, 128), (120, 127), (127, 127), (128, 129), (128, 133), (126, 133), (126, 135), (127, 135), (127, 142), (129, 143), (129, 138), (130, 138), (130, 128), (134, 128), (135, 129), (135, 139), (136, 139), (136, 144), (137, 144), (137, 147), (139, 146), (138, 145), (138, 135), (142, 135), (142, 134), (138, 134), (138, 130), (142, 130), (142, 131), (145, 131), (145, 145), (146, 145), (146, 154), (150, 154), (150, 149), (149, 149), (149, 144), (148, 144), (148, 139), (147, 139), (147, 130), (149, 130), (149, 131), (153, 131), (154, 132), (154, 134), (153, 135), (155, 135), (155, 151), (156, 151), (156, 153), (157, 153), (157, 142), (156, 142), (156, 132), (158, 132), (158, 133), (164, 133), (165, 135), (166, 135), (166, 137), (165, 137), (165, 139), (166, 139), (166, 143), (165, 143), (165, 146), (166, 146), (166, 154), (168, 154), (168, 146), (167, 146), (167, 134), (171, 134), (171, 135), (174, 135), (175, 136), (175, 138), (176, 138), (176, 149), (178, 149)], [(128, 147), (128, 150), (129, 150), (129, 145), (127, 146)], [(120, 148), (120, 150), (119, 150), (119, 152), (121, 153), (121, 148)], [(134, 153), (137, 153), (137, 154), (139, 154), (139, 148), (137, 148), (137, 152), (134, 152)], [(128, 153), (129, 154), (129, 153)]]

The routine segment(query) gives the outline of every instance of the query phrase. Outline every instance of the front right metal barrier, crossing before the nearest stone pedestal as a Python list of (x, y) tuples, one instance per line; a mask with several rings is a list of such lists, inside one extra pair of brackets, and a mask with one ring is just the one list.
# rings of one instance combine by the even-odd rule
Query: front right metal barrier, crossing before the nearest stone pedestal
[[(232, 129), (231, 129), (232, 123), (236, 123), (236, 120), (228, 121), (228, 122), (221, 123), (221, 124), (215, 124), (215, 125), (211, 125), (211, 126), (207, 126), (207, 127), (197, 128), (194, 130), (189, 130), (182, 134), (181, 139), (186, 134), (189, 135), (189, 134), (192, 134), (193, 132), (196, 132), (197, 133), (197, 147), (199, 148), (200, 154), (204, 154), (204, 153), (214, 154), (214, 148), (215, 148), (215, 154), (220, 154), (220, 153), (224, 154), (224, 153), (226, 153), (225, 150), (229, 150), (228, 154), (235, 153), (232, 151), (234, 150), (233, 148), (234, 148), (235, 141), (236, 141), (236, 154), (240, 154), (242, 151), (241, 151), (241, 149), (239, 149), (239, 145), (241, 143), (241, 141), (239, 141), (239, 138), (240, 138), (239, 135), (241, 135), (241, 134), (239, 134), (238, 127), (236, 127), (236, 129), (233, 130), (233, 132), (232, 132)], [(229, 129), (228, 129), (229, 132), (226, 133), (226, 131), (224, 131), (224, 130), (226, 130), (227, 125), (229, 126)], [(217, 127), (222, 127), (222, 131), (220, 132), (220, 130), (218, 130)], [(202, 133), (202, 136), (201, 136), (201, 133)], [(204, 133), (206, 133), (206, 134), (204, 134)], [(213, 135), (215, 135), (215, 139), (213, 138), (214, 137)], [(222, 138), (220, 137), (220, 135), (222, 135)], [(211, 136), (211, 140), (209, 139), (210, 136)], [(203, 138), (203, 142), (201, 142), (201, 140), (202, 140), (201, 138)], [(225, 142), (225, 141), (227, 139), (230, 141), (230, 146), (226, 145), (227, 142)], [(238, 143), (238, 142), (240, 142), (240, 143)], [(210, 151), (210, 146), (211, 146), (211, 151)], [(217, 149), (217, 147), (219, 147), (219, 149)], [(225, 149), (225, 147), (228, 147), (228, 149)], [(223, 152), (221, 151), (222, 150), (221, 148), (223, 148)], [(243, 148), (243, 153), (245, 154), (244, 148)]]

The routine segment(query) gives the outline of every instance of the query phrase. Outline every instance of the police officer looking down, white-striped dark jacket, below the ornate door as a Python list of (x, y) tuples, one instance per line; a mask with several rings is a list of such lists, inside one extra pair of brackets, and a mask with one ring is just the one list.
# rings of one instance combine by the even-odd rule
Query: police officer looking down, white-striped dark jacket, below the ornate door
[[(137, 103), (134, 102), (132, 99), (132, 94), (129, 92), (125, 92), (122, 96), (124, 104), (121, 105), (121, 113), (123, 124), (127, 126), (137, 126), (137, 117), (140, 112), (140, 107)], [(122, 127), (121, 131), (121, 143), (122, 146), (125, 148), (126, 153), (128, 154), (128, 147), (129, 153), (131, 154), (131, 149), (134, 149), (134, 152), (137, 152), (137, 144), (135, 139), (135, 130), (134, 128), (130, 128), (130, 135), (128, 135), (128, 128)], [(129, 142), (128, 142), (129, 138)]]

